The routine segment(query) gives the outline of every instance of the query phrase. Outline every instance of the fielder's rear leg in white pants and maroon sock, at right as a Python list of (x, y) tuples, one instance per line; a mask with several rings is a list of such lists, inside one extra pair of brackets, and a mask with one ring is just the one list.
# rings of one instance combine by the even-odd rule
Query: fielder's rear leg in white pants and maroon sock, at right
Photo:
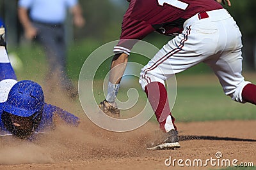
[(232, 18), (219, 22), (219, 25), (225, 27), (220, 31), (220, 39), (225, 39), (223, 41), (225, 48), (219, 56), (205, 60), (205, 63), (214, 70), (227, 96), (239, 103), (256, 104), (256, 85), (245, 81), (241, 74), (243, 65), (241, 32)]

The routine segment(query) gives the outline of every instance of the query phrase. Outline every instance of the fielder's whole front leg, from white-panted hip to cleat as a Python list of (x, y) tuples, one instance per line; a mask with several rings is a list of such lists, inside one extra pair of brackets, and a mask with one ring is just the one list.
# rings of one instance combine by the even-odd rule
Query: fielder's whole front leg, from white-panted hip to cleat
[[(141, 87), (147, 92), (148, 100), (152, 105), (159, 125), (168, 136), (166, 140), (162, 141), (162, 144), (150, 149), (155, 150), (157, 147), (158, 149), (170, 149), (168, 145), (179, 148), (177, 128), (174, 125), (175, 119), (172, 117), (168, 105), (164, 81), (214, 55), (218, 31), (215, 27), (212, 27), (209, 20), (198, 20), (194, 17), (191, 19), (191, 23), (195, 22), (198, 22), (198, 24), (186, 26), (182, 34), (164, 45), (154, 58), (141, 69)], [(198, 31), (201, 29), (202, 32)], [(166, 147), (164, 147), (165, 144)]]

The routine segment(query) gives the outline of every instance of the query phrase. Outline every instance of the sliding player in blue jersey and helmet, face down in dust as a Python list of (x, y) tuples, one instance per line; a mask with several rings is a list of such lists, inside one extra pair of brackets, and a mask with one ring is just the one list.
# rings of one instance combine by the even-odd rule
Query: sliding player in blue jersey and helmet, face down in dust
[(3, 23), (0, 26), (0, 136), (33, 139), (33, 134), (54, 127), (54, 114), (67, 124), (78, 125), (79, 118), (44, 102), (38, 83), (17, 81), (6, 52)]

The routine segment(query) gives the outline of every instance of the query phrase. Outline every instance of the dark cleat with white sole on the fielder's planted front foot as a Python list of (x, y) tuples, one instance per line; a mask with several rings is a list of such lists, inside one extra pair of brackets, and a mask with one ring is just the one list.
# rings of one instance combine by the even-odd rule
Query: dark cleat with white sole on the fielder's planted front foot
[(174, 150), (180, 148), (178, 132), (171, 130), (147, 146), (147, 150)]

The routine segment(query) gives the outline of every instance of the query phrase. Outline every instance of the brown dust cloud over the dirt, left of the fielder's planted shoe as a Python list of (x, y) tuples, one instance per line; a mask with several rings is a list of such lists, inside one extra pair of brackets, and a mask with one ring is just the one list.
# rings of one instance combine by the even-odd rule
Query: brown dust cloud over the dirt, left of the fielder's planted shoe
[(51, 164), (109, 157), (134, 157), (146, 152), (152, 125), (132, 132), (110, 132), (83, 118), (78, 127), (58, 123), (33, 141), (0, 138), (0, 165)]

